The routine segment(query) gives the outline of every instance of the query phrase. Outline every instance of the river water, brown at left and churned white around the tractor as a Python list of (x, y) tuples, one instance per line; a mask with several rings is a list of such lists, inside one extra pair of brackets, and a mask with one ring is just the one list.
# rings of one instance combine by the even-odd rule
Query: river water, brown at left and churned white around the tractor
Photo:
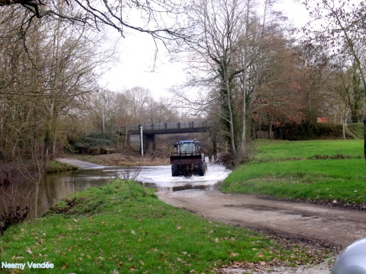
[(219, 164), (208, 163), (205, 176), (172, 177), (170, 165), (140, 167), (106, 167), (71, 159), (61, 161), (79, 166), (77, 171), (47, 175), (43, 178), (39, 193), (38, 212), (47, 210), (56, 200), (63, 196), (100, 186), (114, 177), (132, 177), (145, 187), (156, 188), (158, 191), (179, 191), (186, 189), (216, 190), (228, 176), (230, 170)]

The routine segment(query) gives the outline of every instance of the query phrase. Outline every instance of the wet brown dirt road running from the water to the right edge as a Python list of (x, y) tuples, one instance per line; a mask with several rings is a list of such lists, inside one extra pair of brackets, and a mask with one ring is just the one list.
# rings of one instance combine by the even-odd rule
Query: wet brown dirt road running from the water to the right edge
[(260, 199), (220, 191), (158, 192), (159, 199), (204, 217), (325, 247), (366, 237), (366, 211)]

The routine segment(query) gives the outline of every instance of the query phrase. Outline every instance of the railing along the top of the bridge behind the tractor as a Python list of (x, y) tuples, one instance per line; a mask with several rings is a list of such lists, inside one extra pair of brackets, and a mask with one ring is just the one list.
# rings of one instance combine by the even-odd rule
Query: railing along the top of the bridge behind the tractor
[(179, 129), (189, 129), (189, 128), (209, 128), (213, 125), (212, 121), (208, 120), (194, 120), (189, 122), (174, 122), (174, 123), (158, 123), (158, 124), (140, 124), (140, 125), (128, 125), (120, 126), (120, 132), (137, 133), (140, 131), (142, 126), (142, 131), (147, 132), (159, 132), (164, 130), (179, 130)]

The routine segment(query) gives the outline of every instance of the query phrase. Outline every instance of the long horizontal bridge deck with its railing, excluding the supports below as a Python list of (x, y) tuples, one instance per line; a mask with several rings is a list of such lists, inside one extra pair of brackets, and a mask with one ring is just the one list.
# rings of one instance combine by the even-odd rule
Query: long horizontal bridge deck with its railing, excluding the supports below
[(195, 120), (190, 122), (175, 122), (175, 123), (158, 123), (158, 124), (140, 124), (119, 126), (119, 131), (122, 133), (139, 134), (142, 127), (144, 135), (151, 134), (173, 134), (173, 133), (190, 133), (207, 131), (214, 124), (213, 121)]

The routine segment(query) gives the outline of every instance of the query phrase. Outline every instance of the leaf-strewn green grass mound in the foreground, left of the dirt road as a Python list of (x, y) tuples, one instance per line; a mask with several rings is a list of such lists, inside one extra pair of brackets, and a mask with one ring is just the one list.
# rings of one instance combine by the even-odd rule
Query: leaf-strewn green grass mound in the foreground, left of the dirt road
[(0, 261), (25, 264), (2, 266), (2, 273), (218, 273), (233, 261), (295, 265), (324, 257), (174, 208), (152, 189), (118, 179), (72, 194), (0, 236)]

